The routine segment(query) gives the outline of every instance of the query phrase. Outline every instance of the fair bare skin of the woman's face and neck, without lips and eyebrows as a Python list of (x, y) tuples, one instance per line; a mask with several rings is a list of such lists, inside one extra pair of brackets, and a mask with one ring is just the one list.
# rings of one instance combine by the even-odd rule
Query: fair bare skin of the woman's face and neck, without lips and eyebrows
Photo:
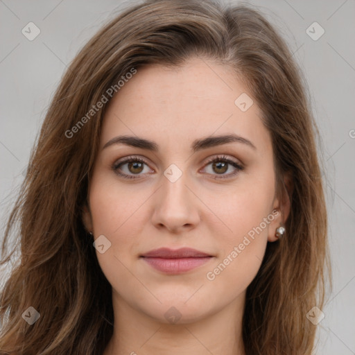
[[(111, 243), (103, 254), (96, 250), (114, 306), (114, 334), (105, 355), (245, 354), (245, 290), (257, 275), (266, 243), (277, 240), (275, 230), (289, 214), (289, 200), (275, 194), (270, 133), (256, 101), (246, 112), (234, 104), (242, 93), (252, 97), (232, 69), (194, 58), (182, 68), (139, 69), (110, 102), (83, 214), (94, 239), (103, 234)], [(191, 150), (195, 139), (231, 132), (256, 149), (231, 142)], [(159, 150), (124, 144), (103, 149), (118, 135), (150, 139)], [(146, 160), (138, 168), (121, 166), (136, 179), (124, 179), (112, 168), (129, 155)], [(244, 169), (207, 164), (217, 155)], [(164, 175), (171, 164), (182, 171), (175, 182)], [(249, 238), (214, 280), (207, 279), (207, 272), (273, 210), (278, 216)], [(161, 247), (195, 248), (213, 257), (188, 272), (166, 275), (139, 258)], [(164, 316), (172, 306), (178, 312), (170, 312), (181, 316), (175, 324)]]

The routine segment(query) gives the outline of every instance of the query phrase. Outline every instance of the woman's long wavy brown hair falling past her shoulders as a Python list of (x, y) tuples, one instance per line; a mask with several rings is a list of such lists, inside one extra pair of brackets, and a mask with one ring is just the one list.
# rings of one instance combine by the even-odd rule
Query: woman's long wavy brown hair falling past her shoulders
[[(248, 286), (243, 342), (248, 355), (311, 354), (330, 276), (327, 211), (306, 85), (282, 37), (249, 6), (212, 0), (145, 1), (125, 9), (76, 55), (55, 92), (3, 239), (21, 256), (1, 292), (1, 354), (101, 354), (113, 331), (112, 288), (82, 222), (108, 104), (122, 76), (148, 64), (206, 58), (234, 68), (272, 137), (277, 188), (291, 174), (287, 236), (268, 243)], [(110, 97), (108, 97), (110, 96)], [(83, 119), (86, 117), (87, 119)], [(79, 121), (81, 122), (79, 124)], [(76, 128), (74, 128), (76, 127)], [(17, 228), (18, 227), (18, 228)], [(40, 313), (30, 325), (29, 306)]]

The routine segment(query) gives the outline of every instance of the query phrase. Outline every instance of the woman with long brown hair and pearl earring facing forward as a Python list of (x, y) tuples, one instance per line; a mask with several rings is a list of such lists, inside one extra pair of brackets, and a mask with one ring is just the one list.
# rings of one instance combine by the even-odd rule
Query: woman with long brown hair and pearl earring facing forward
[(20, 223), (1, 354), (311, 354), (329, 266), (317, 134), (257, 11), (125, 10), (46, 114), (3, 241), (6, 263)]

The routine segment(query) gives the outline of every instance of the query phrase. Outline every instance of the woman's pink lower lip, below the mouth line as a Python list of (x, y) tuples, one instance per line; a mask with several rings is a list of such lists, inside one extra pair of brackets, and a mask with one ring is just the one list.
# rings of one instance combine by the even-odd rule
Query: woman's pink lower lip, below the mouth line
[(182, 272), (193, 270), (194, 268), (207, 263), (211, 257), (181, 259), (144, 257), (142, 259), (144, 259), (144, 261), (146, 261), (153, 268), (165, 272), (166, 274), (180, 274)]

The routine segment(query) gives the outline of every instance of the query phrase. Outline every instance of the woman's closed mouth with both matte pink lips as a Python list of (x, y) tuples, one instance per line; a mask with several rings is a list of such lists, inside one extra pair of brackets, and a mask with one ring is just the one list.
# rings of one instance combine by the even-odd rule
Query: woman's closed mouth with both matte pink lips
[(175, 275), (198, 268), (214, 258), (213, 255), (191, 248), (159, 248), (139, 257), (155, 270)]

